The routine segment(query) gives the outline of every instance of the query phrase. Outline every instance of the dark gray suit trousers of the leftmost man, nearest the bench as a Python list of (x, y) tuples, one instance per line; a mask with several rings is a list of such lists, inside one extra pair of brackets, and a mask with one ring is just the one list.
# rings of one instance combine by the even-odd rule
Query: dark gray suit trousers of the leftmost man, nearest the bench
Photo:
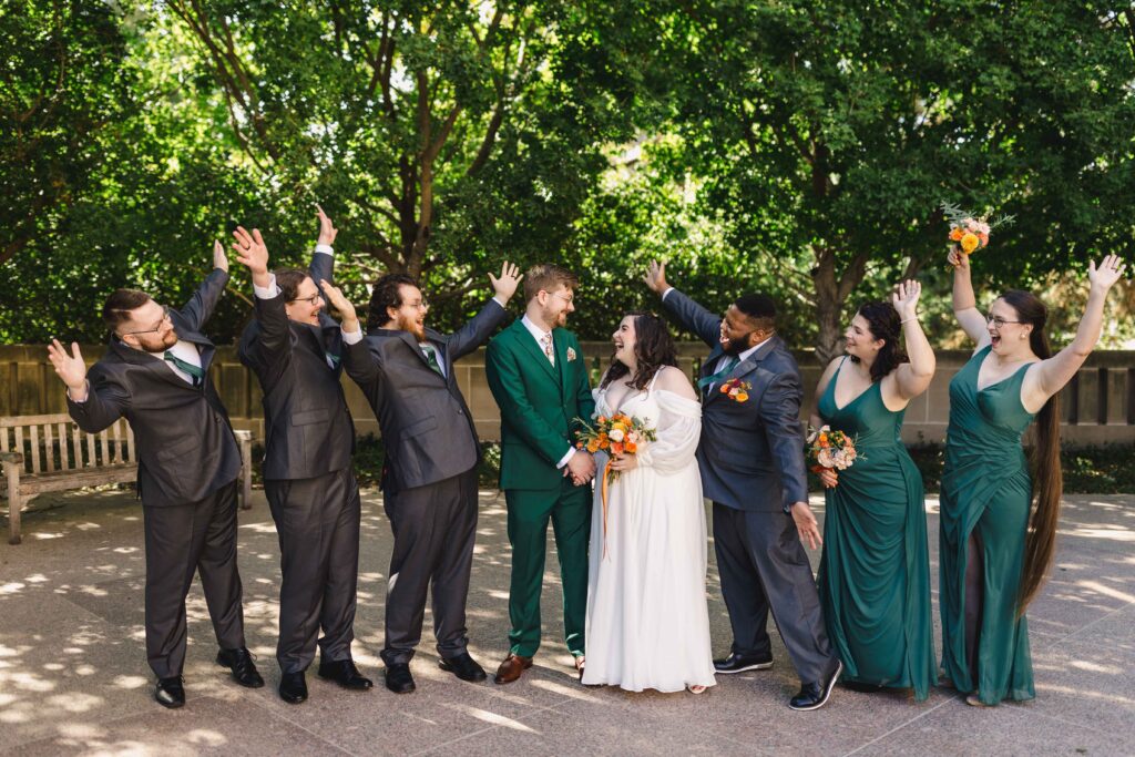
[(244, 645), (241, 575), (236, 570), (236, 481), (185, 505), (143, 506), (145, 521), (145, 653), (158, 678), (185, 665), (185, 597), (200, 572), (217, 644)]

